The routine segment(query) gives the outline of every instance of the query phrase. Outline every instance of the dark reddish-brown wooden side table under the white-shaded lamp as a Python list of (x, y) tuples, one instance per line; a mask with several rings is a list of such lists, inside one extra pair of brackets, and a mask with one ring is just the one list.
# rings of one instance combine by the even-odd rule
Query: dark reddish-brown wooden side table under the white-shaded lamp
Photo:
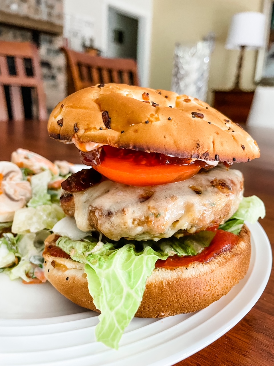
[(213, 107), (233, 122), (246, 123), (254, 91), (212, 90)]

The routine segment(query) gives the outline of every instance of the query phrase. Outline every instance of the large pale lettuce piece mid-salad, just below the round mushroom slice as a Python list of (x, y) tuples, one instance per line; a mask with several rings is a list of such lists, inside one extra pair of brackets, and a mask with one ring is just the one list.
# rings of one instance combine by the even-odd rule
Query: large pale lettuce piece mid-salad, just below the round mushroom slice
[(43, 229), (50, 230), (63, 217), (65, 217), (63, 210), (55, 203), (37, 206), (36, 208), (24, 207), (15, 212), (11, 231), (26, 234), (28, 232), (35, 233)]

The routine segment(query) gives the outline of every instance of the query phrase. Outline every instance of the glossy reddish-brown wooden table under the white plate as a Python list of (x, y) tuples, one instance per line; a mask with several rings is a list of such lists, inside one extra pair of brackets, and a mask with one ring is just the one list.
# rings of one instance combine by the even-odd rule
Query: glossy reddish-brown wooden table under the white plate
[[(18, 147), (30, 149), (50, 160), (66, 159), (80, 163), (74, 145), (50, 139), (46, 123), (0, 124), (0, 160), (9, 160)], [(234, 164), (245, 176), (245, 195), (258, 195), (266, 205), (266, 218), (260, 220), (274, 247), (274, 129), (253, 128), (261, 148), (260, 160)], [(183, 347), (183, 344), (182, 344)], [(274, 272), (253, 309), (220, 339), (176, 366), (270, 366), (274, 365)]]

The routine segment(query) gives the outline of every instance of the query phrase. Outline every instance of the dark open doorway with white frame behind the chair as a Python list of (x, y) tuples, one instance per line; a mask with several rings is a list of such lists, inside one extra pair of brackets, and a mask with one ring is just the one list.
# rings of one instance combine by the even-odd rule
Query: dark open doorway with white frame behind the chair
[(137, 60), (138, 19), (109, 7), (107, 56)]

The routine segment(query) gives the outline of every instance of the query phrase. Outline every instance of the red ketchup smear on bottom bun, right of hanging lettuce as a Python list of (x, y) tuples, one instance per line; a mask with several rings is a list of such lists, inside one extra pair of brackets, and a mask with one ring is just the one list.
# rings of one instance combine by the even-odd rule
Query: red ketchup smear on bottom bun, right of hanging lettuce
[(216, 235), (208, 247), (197, 255), (170, 256), (165, 261), (158, 259), (155, 268), (187, 267), (193, 262), (208, 263), (218, 254), (231, 250), (238, 242), (239, 236), (224, 230), (217, 230)]

